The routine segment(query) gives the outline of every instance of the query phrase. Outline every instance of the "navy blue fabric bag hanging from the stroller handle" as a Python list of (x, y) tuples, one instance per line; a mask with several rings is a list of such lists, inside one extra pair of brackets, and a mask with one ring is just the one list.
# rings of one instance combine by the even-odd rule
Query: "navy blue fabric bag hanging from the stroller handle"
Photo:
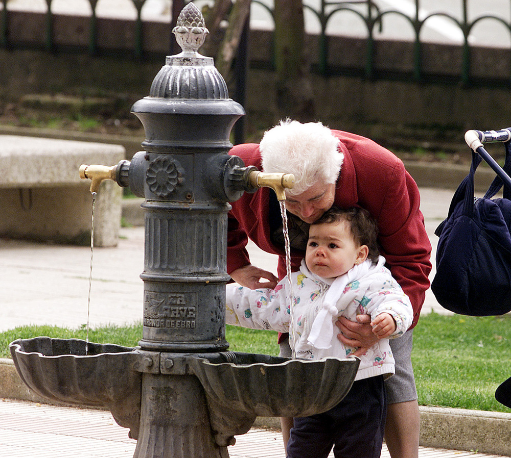
[[(511, 149), (505, 143), (505, 173)], [(474, 199), (474, 173), (481, 157), (472, 151), (470, 173), (456, 190), (449, 214), (435, 231), (439, 237), (431, 290), (447, 310), (470, 316), (511, 311), (511, 189), (495, 178), (483, 198)]]

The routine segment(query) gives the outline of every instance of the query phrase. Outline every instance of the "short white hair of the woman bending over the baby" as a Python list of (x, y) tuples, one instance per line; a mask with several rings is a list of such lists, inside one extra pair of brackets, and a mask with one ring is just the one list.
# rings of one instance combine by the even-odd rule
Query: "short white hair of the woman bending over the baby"
[(318, 182), (337, 181), (344, 160), (338, 146), (339, 139), (321, 122), (286, 119), (265, 132), (259, 150), (264, 172), (294, 174), (288, 192), (297, 195)]

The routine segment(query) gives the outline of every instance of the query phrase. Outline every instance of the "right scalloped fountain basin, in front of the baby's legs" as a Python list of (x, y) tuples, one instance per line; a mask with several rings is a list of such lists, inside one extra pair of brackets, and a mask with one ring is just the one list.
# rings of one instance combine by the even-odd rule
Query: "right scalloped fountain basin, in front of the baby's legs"
[(325, 412), (350, 391), (360, 360), (290, 360), (234, 353), (235, 361), (193, 367), (210, 408), (264, 417), (304, 417)]

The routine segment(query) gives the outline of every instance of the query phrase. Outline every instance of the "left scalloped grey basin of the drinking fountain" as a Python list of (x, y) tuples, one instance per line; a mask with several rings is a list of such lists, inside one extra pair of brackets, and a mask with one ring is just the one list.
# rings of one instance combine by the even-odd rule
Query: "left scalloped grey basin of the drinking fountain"
[(133, 348), (50, 337), (18, 339), (9, 348), (21, 380), (33, 391), (54, 402), (106, 407), (136, 439), (142, 374), (134, 370)]

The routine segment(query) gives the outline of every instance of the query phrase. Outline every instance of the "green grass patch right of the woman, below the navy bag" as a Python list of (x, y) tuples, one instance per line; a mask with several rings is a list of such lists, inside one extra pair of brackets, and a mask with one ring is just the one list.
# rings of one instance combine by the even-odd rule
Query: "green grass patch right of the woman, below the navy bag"
[(420, 403), (509, 412), (495, 399), (511, 376), (511, 317), (421, 317), (412, 363)]

